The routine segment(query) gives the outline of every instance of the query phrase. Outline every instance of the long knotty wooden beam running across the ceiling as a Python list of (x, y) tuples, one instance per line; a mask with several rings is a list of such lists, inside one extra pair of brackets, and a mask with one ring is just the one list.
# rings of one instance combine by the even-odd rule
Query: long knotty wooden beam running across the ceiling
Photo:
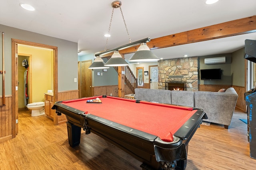
[[(200, 41), (207, 41), (211, 39), (218, 39), (253, 32), (256, 32), (256, 16), (228, 21), (216, 25), (211, 25), (208, 27), (202, 27), (190, 31), (185, 31), (181, 33), (151, 39), (151, 41), (148, 42), (147, 45), (150, 49), (160, 49), (165, 47), (196, 43)], [(137, 51), (138, 47), (139, 45), (124, 50), (120, 50), (119, 53), (134, 53)], [(107, 54), (106, 56), (111, 55), (112, 54)]]

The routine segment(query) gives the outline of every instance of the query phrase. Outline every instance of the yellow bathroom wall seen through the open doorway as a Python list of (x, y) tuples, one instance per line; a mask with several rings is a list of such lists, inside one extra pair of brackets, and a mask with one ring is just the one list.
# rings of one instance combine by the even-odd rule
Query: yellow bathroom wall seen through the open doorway
[[(29, 54), (29, 77), (32, 85), (32, 102), (44, 102), (44, 93), (53, 87), (53, 53), (52, 49), (18, 45), (18, 53)], [(23, 90), (23, 89), (19, 89)]]

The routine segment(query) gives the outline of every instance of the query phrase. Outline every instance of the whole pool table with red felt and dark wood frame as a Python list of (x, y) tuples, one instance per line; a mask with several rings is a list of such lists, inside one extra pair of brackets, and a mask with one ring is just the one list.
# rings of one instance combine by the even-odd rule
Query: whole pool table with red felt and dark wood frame
[(66, 115), (71, 147), (80, 144), (83, 128), (132, 155), (143, 170), (184, 170), (188, 142), (207, 118), (202, 109), (113, 96), (60, 101), (52, 109)]

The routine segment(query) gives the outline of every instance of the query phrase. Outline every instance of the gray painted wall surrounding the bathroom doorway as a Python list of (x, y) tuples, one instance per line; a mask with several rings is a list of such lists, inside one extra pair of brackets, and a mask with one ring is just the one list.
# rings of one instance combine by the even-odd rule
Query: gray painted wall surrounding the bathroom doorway
[[(50, 27), (49, 27), (50, 29)], [(78, 82), (74, 82), (74, 78), (78, 78), (78, 44), (63, 39), (58, 39), (14, 27), (8, 27), (0, 24), (2, 46), (2, 32), (4, 32), (4, 67), (5, 74), (5, 94), (11, 95), (12, 86), (12, 38), (34, 43), (41, 43), (58, 47), (58, 91), (78, 90)], [(2, 47), (0, 48), (0, 70), (2, 70)], [(42, 70), (43, 71), (43, 70)], [(2, 86), (2, 75), (0, 84)], [(2, 95), (2, 89), (0, 92)]]

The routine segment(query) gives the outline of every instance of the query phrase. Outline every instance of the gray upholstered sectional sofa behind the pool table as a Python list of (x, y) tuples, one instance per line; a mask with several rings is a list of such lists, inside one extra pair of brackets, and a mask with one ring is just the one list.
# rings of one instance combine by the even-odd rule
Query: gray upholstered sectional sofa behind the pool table
[(225, 92), (178, 91), (136, 88), (134, 99), (149, 102), (175, 104), (203, 109), (209, 121), (224, 125), (226, 129), (232, 120), (238, 94), (234, 88)]

